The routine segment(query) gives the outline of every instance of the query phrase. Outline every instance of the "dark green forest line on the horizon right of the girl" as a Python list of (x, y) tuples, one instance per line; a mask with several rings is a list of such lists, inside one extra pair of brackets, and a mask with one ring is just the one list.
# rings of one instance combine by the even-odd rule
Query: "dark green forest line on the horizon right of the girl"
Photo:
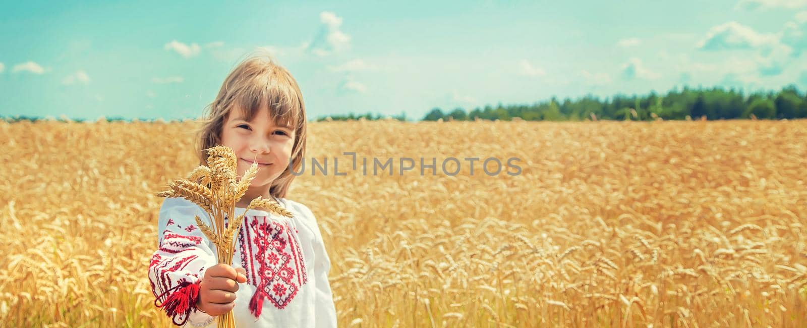
[[(786, 86), (779, 92), (758, 91), (744, 95), (742, 90), (673, 89), (667, 95), (651, 91), (647, 95), (614, 95), (599, 99), (586, 95), (578, 99), (549, 100), (533, 104), (499, 103), (493, 107), (462, 107), (443, 110), (433, 108), (422, 120), (781, 120), (807, 118), (807, 95), (796, 86)], [(320, 117), (318, 120), (380, 120), (386, 116), (364, 115)], [(407, 120), (404, 113), (389, 117)]]

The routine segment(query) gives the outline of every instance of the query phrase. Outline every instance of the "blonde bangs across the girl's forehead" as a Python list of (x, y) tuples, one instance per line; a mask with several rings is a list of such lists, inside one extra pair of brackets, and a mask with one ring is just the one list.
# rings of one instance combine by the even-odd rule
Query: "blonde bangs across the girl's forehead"
[(268, 107), (270, 119), (274, 124), (296, 130), (300, 113), (303, 111), (303, 99), (296, 83), (286, 74), (272, 69), (270, 74), (253, 76), (233, 97), (232, 111), (244, 111), (245, 120), (251, 121), (261, 108)]

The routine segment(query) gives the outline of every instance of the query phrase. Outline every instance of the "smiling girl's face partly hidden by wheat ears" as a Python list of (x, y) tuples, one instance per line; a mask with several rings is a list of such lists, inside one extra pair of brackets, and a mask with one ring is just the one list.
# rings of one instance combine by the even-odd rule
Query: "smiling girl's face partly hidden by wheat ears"
[(286, 170), (294, 142), (295, 131), (275, 125), (266, 107), (249, 122), (243, 111), (234, 108), (221, 130), (221, 144), (232, 148), (238, 158), (238, 176), (243, 176), (253, 161), (258, 163), (251, 187), (266, 186)]

